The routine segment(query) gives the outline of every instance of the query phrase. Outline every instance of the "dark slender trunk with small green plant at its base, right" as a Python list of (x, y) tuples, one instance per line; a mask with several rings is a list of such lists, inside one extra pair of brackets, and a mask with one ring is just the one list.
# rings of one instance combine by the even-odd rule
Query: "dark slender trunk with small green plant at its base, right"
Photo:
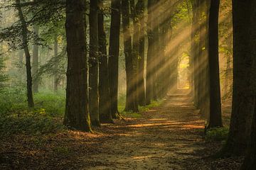
[(210, 1), (209, 13), (209, 71), (210, 71), (210, 118), (208, 128), (222, 127), (220, 101), (220, 72), (218, 61), (218, 13), (220, 0)]

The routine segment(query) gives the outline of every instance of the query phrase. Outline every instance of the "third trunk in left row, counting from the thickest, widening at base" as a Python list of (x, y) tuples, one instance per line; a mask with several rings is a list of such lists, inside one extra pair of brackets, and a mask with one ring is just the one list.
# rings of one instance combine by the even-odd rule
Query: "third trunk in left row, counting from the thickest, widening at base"
[(99, 29), (99, 112), (100, 123), (114, 123), (111, 114), (111, 98), (109, 73), (107, 67), (107, 41), (104, 27), (103, 0), (99, 2), (100, 13), (98, 14)]

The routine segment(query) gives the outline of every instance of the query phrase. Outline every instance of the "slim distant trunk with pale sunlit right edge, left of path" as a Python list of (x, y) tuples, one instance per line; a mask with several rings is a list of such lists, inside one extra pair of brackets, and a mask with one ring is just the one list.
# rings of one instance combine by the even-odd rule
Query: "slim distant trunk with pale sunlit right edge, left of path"
[(139, 105), (146, 105), (146, 94), (145, 94), (145, 83), (144, 83), (144, 62), (145, 62), (145, 1), (139, 0), (137, 3), (137, 11), (139, 16), (140, 24), (140, 36), (139, 36), (139, 80), (138, 80), (138, 91), (139, 91)]

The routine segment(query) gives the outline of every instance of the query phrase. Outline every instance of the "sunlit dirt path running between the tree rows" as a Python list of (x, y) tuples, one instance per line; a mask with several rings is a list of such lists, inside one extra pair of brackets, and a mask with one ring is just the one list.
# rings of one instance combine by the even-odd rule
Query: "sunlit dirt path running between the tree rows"
[(206, 147), (204, 120), (183, 95), (169, 96), (142, 118), (110, 129), (118, 135), (104, 139), (95, 152), (83, 157), (84, 169), (189, 169), (187, 163), (201, 159), (198, 152)]

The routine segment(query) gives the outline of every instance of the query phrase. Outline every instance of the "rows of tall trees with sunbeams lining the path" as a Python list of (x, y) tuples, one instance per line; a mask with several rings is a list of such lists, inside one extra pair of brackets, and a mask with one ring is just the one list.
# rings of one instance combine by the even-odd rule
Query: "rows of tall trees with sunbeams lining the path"
[[(232, 98), (228, 140), (220, 154), (245, 156), (241, 169), (254, 170), (256, 1), (233, 0), (227, 7), (232, 11), (230, 16), (228, 12), (220, 14), (223, 3), (2, 0), (1, 56), (6, 52), (18, 56), (20, 76), (15, 79), (26, 86), (28, 108), (35, 107), (34, 94), (40, 91), (43, 79), (52, 81), (54, 91), (66, 90), (63, 124), (93, 132), (102, 123), (122, 120), (118, 108), (120, 83), (125, 86), (127, 113), (139, 112), (141, 106), (174, 94), (181, 87), (184, 74), (179, 56), (184, 55), (188, 67), (182, 86), (190, 89), (194, 106), (206, 118), (206, 130), (223, 127), (223, 98)], [(13, 23), (7, 22), (11, 17), (8, 11), (15, 13)], [(228, 26), (221, 25), (225, 23)], [(182, 48), (186, 52), (181, 52)], [(46, 49), (52, 54), (43, 52)], [(48, 62), (39, 62), (42, 54)], [(8, 65), (1, 56), (0, 93), (9, 81), (5, 72)], [(223, 60), (224, 81), (220, 71)], [(120, 79), (122, 64), (124, 79)]]

